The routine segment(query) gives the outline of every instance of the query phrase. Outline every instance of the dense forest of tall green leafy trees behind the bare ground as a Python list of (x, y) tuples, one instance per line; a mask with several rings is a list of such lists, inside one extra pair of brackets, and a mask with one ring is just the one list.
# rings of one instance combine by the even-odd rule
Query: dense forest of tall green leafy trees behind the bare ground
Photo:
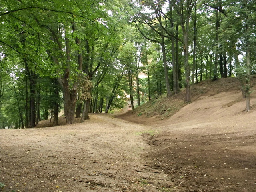
[[(132, 109), (238, 77), (250, 111), (254, 0), (0, 0), (0, 128)], [(140, 74), (146, 78), (140, 78)]]

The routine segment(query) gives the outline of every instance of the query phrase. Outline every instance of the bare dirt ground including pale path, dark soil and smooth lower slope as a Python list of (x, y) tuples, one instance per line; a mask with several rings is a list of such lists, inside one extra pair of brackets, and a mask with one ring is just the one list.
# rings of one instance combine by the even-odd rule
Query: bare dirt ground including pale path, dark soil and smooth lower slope
[(91, 114), (84, 123), (0, 130), (0, 191), (256, 192), (251, 96), (249, 113), (230, 89), (204, 93), (163, 120)]

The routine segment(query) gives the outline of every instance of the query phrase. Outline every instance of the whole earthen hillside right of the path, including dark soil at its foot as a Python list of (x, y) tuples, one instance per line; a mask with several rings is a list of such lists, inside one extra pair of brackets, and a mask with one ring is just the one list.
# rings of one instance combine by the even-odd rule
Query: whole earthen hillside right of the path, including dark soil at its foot
[[(252, 87), (251, 112), (245, 112), (237, 78), (204, 81), (195, 88), (190, 104), (182, 102), (181, 92), (119, 118), (160, 128), (157, 134), (144, 135), (151, 146), (145, 155), (147, 165), (170, 176), (181, 191), (255, 192), (256, 86)], [(159, 109), (172, 106), (180, 109), (164, 119)], [(137, 116), (138, 112), (144, 115)]]

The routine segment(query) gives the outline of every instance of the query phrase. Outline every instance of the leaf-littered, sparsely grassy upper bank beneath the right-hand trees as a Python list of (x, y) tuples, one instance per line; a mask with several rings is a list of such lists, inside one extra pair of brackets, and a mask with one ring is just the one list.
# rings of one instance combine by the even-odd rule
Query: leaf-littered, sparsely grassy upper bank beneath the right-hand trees
[[(254, 95), (255, 95), (254, 94), (255, 84), (256, 84), (256, 78), (254, 77), (251, 80), (252, 98), (254, 98)], [(203, 98), (209, 98), (209, 99), (213, 98), (214, 100), (214, 97), (211, 97), (211, 96), (214, 96), (219, 93), (224, 93), (224, 92), (227, 93), (226, 96), (228, 98), (229, 98), (228, 96), (229, 94), (231, 94), (232, 96), (230, 97), (230, 100), (228, 99), (225, 102), (223, 101), (224, 102), (223, 105), (226, 105), (226, 107), (229, 107), (235, 104), (236, 102), (244, 101), (244, 108), (245, 108), (245, 99), (242, 98), (240, 82), (239, 82), (239, 79), (236, 77), (220, 78), (216, 81), (205, 80), (195, 84), (194, 90), (191, 90), (191, 103), (189, 105), (194, 106), (192, 104), (193, 102), (202, 100)], [(236, 96), (234, 96), (233, 93), (237, 93)], [(222, 96), (218, 95), (218, 97), (221, 98)], [(151, 100), (150, 102), (147, 102), (141, 106), (138, 106), (133, 111), (119, 115), (118, 118), (122, 118), (124, 120), (130, 120), (136, 123), (155, 122), (158, 120), (169, 119), (171, 116), (176, 114), (179, 110), (181, 110), (182, 108), (188, 105), (184, 103), (184, 98), (185, 98), (185, 90), (184, 88), (182, 88), (178, 94), (170, 98), (166, 98), (166, 94), (164, 94), (154, 100)], [(208, 102), (211, 102), (211, 101), (210, 100), (206, 101), (206, 103)], [(205, 105), (206, 105), (205, 108), (208, 108), (207, 104)], [(196, 108), (199, 109), (200, 107), (196, 107)], [(201, 112), (203, 111), (201, 110)], [(207, 110), (207, 114), (210, 114), (209, 110)], [(148, 118), (148, 120), (145, 120), (144, 118)], [(193, 117), (190, 116), (190, 118), (193, 118)]]

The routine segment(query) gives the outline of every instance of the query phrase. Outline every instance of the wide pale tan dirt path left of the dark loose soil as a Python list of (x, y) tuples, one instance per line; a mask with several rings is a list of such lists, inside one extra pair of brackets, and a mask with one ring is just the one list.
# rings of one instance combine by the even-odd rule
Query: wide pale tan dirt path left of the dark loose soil
[(154, 127), (111, 115), (83, 124), (0, 130), (4, 192), (159, 192), (174, 189), (164, 172), (145, 164), (142, 134)]

